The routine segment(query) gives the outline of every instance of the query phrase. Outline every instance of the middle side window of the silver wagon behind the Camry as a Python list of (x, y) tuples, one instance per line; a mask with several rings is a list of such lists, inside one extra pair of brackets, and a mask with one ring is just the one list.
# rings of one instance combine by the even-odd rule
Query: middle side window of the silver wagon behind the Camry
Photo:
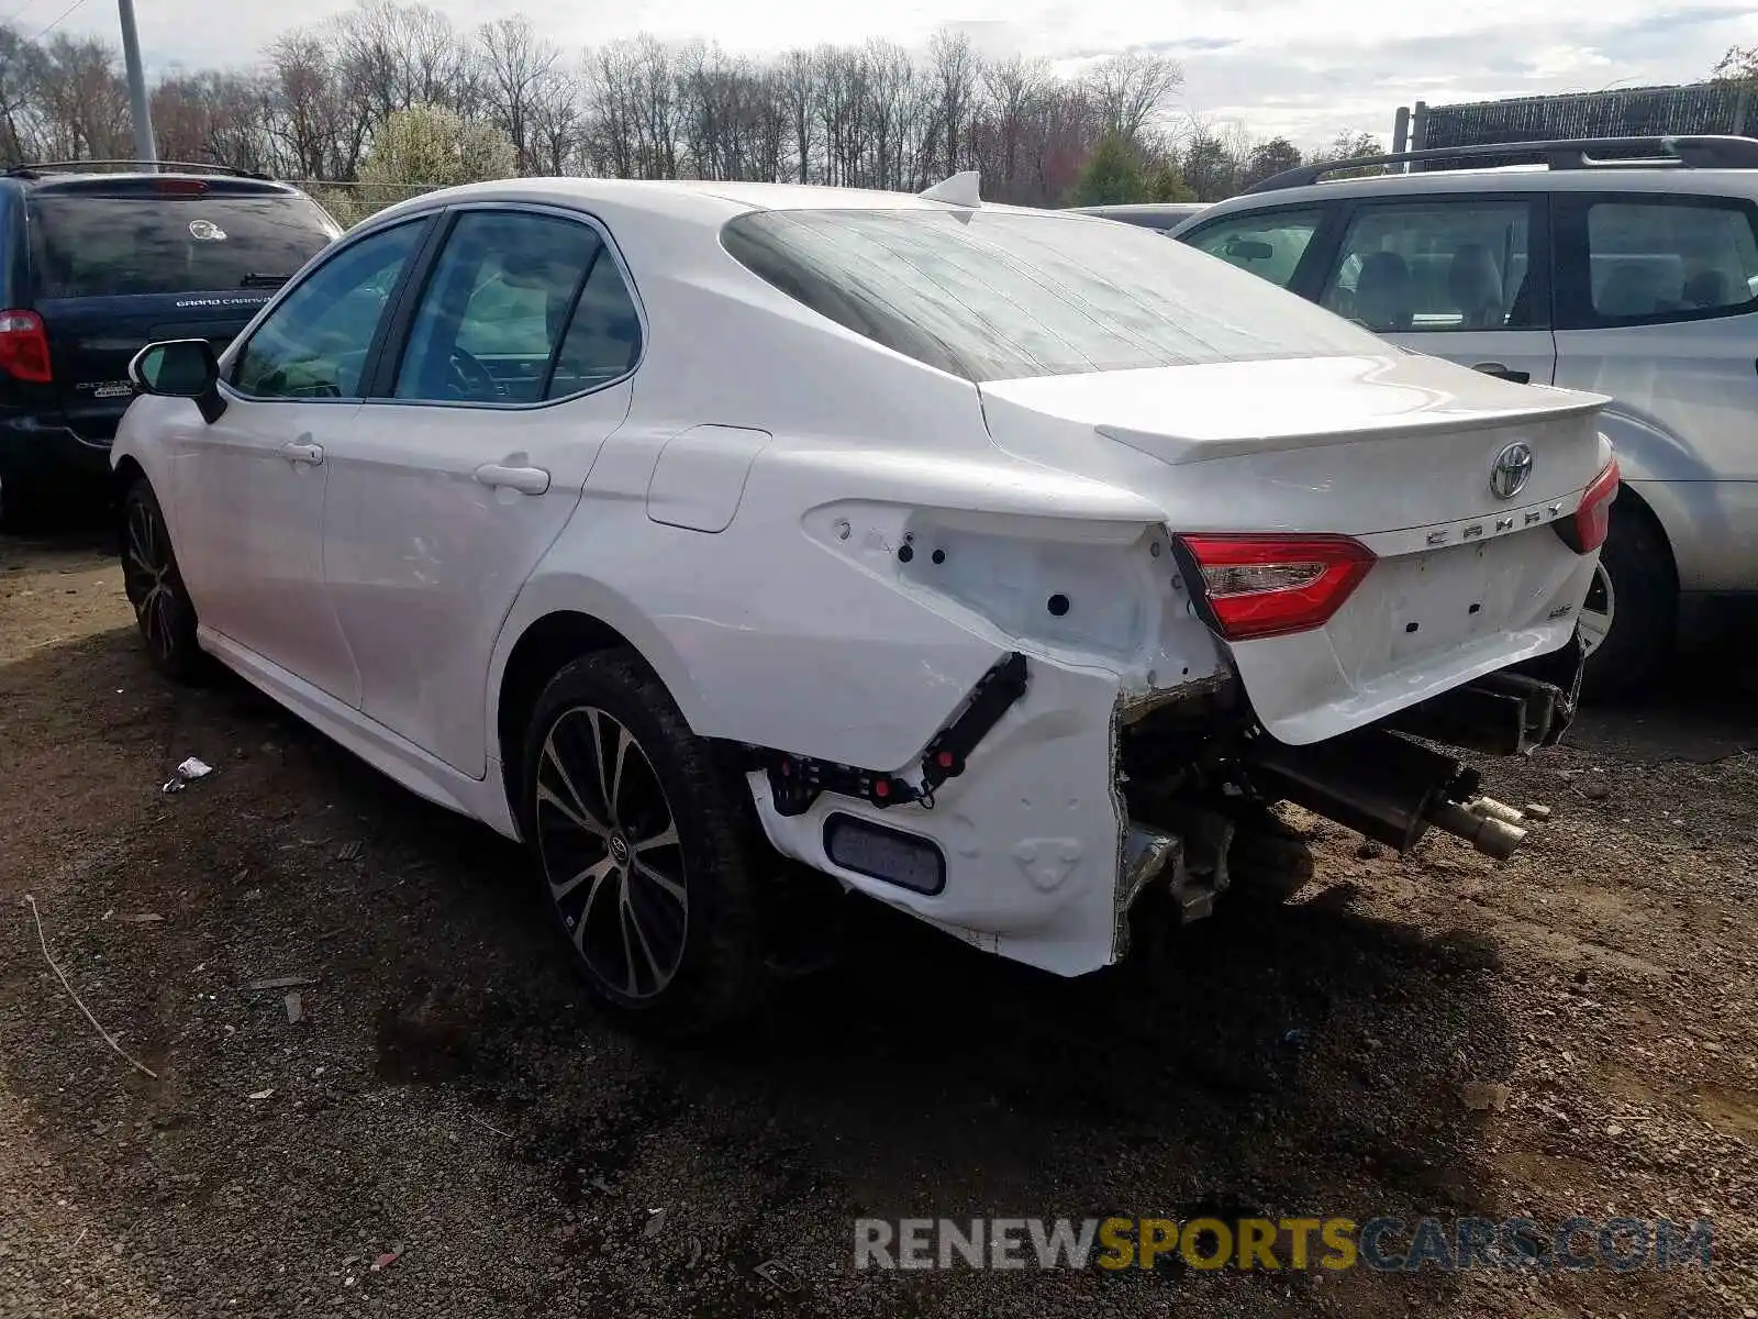
[(1324, 306), (1371, 331), (1544, 329), (1524, 200), (1422, 200), (1355, 211)]

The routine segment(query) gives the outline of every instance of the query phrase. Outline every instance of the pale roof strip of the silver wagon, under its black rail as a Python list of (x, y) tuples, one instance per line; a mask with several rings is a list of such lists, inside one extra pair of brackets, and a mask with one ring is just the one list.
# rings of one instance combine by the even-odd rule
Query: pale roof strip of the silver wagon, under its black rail
[(1707, 197), (1758, 199), (1758, 169), (1551, 169), (1501, 165), (1494, 169), (1424, 169), (1413, 174), (1366, 174), (1326, 179), (1296, 188), (1246, 192), (1202, 209), (1202, 220), (1238, 211), (1311, 206), (1338, 197), (1424, 197), (1461, 192), (1667, 192)]

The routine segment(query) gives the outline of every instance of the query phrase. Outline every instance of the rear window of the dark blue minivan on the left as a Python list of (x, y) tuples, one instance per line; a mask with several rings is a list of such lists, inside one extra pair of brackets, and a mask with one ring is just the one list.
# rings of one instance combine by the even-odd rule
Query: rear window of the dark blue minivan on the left
[(37, 297), (269, 288), (339, 232), (288, 193), (39, 192), (30, 206)]

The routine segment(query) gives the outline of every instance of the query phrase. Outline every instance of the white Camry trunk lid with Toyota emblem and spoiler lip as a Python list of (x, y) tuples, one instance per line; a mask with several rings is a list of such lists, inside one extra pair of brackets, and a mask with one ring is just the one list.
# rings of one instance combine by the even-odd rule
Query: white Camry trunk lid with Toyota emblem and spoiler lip
[(1285, 742), (1565, 645), (1598, 559), (1554, 531), (1610, 461), (1598, 396), (1396, 350), (981, 390), (997, 445), (1151, 498), (1174, 535), (1331, 533), (1373, 550), (1324, 626), (1225, 642)]

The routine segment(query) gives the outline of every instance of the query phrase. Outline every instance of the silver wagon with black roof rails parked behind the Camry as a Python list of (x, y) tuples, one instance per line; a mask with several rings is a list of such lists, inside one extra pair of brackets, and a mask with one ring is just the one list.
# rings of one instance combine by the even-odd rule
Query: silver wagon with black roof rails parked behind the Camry
[[(1375, 167), (1412, 172), (1327, 178)], [(1758, 593), (1758, 141), (1333, 160), (1173, 237), (1406, 348), (1610, 399), (1623, 492), (1584, 621), (1589, 695), (1649, 686), (1681, 605)]]

